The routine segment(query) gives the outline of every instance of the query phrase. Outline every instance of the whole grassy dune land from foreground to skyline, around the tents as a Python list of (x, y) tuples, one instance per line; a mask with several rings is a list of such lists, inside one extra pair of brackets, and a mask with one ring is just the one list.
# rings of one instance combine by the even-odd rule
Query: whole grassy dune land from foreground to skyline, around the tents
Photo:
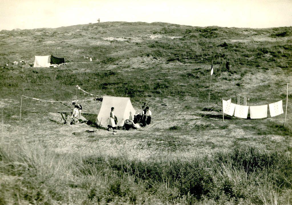
[[(0, 204), (289, 204), (291, 43), (291, 27), (103, 22), (2, 30)], [(49, 54), (68, 64), (12, 65), (33, 65), (34, 55)], [(248, 105), (283, 100), (285, 112), (287, 83), (285, 125), (284, 114), (222, 121), (220, 101), (234, 102), (236, 93), (247, 96)], [(58, 112), (71, 112), (70, 104), (26, 98), (19, 121), (21, 95), (86, 99), (76, 85), (130, 97), (138, 111), (146, 101), (153, 126), (77, 136), (95, 127), (61, 126)], [(82, 106), (84, 117), (95, 121), (100, 102)]]

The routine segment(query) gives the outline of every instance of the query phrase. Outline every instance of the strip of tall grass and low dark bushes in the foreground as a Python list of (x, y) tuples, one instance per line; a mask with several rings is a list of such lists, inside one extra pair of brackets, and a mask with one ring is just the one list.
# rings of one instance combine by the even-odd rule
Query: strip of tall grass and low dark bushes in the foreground
[(235, 147), (212, 156), (141, 161), (58, 155), (39, 145), (15, 151), (2, 143), (0, 203), (281, 204), (292, 193), (290, 155)]

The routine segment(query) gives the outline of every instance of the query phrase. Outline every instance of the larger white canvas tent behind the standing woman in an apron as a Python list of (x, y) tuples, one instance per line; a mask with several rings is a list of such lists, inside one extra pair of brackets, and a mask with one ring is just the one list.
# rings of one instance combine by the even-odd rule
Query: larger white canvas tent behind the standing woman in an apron
[(136, 111), (130, 98), (103, 96), (97, 117), (98, 126), (107, 128), (112, 107), (114, 107), (114, 115), (118, 119), (117, 126), (123, 126), (126, 119), (134, 119)]

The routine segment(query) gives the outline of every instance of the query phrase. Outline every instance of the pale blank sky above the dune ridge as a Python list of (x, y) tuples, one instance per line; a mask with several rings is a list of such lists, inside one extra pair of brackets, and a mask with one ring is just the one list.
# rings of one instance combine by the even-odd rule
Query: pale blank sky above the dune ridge
[(292, 26), (292, 0), (0, 0), (0, 30), (101, 22), (191, 26)]

